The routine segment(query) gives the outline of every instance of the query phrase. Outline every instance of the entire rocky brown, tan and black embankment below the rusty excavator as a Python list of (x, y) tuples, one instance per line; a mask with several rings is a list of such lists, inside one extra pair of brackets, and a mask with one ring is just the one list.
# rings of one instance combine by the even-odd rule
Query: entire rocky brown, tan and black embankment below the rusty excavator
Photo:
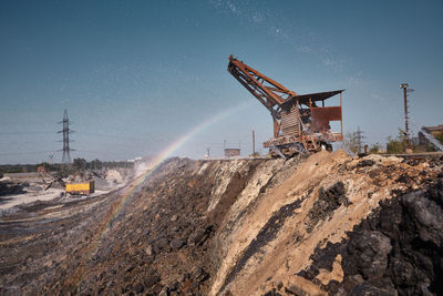
[(442, 163), (171, 159), (0, 218), (0, 294), (442, 295)]

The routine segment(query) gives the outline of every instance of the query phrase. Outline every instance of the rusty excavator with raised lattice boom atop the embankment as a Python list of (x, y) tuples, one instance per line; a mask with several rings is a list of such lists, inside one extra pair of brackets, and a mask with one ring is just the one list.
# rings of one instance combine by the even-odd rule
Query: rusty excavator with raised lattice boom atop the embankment
[[(341, 106), (344, 90), (297, 94), (233, 55), (229, 57), (228, 72), (269, 110), (274, 137), (266, 141), (264, 147), (268, 147), (274, 157), (331, 151), (332, 142), (343, 140)], [(340, 94), (340, 105), (324, 106), (324, 100), (336, 94)], [(340, 122), (340, 132), (331, 132), (331, 121)]]

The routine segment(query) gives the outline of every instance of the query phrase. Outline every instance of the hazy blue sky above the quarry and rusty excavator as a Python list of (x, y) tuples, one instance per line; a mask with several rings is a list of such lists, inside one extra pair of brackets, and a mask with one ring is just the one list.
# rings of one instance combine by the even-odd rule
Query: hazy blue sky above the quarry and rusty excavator
[(300, 94), (346, 89), (343, 131), (368, 144), (404, 126), (400, 83), (413, 133), (443, 124), (442, 14), (432, 0), (3, 0), (0, 164), (61, 162), (65, 109), (72, 159), (155, 155), (196, 126), (174, 155), (225, 141), (248, 155), (253, 130), (265, 153), (271, 118), (229, 54)]

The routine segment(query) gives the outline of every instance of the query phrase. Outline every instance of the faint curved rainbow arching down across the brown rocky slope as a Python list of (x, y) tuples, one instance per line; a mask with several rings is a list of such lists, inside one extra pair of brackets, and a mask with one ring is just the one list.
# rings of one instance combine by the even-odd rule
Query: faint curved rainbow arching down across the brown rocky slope
[[(245, 109), (248, 104), (244, 103), (240, 105), (236, 105), (230, 109), (226, 109), (218, 114), (215, 114), (214, 116), (207, 119), (206, 121), (202, 122), (194, 129), (192, 129), (189, 132), (184, 134), (182, 137), (176, 140), (175, 142), (171, 143), (166, 149), (164, 149), (151, 163), (150, 169), (146, 170), (143, 174), (137, 176), (124, 191), (124, 193), (121, 195), (119, 201), (116, 202), (116, 205), (113, 207), (110, 214), (105, 215), (105, 220), (107, 220), (106, 223), (104, 223), (104, 226), (102, 229), (99, 232), (100, 235), (95, 236), (95, 239), (91, 239), (90, 245), (87, 246), (86, 253), (89, 254), (86, 258), (89, 261), (92, 259), (92, 256), (97, 252), (100, 242), (102, 242), (102, 238), (104, 235), (107, 233), (107, 231), (111, 228), (111, 225), (113, 224), (115, 217), (119, 215), (119, 213), (122, 211), (124, 207), (125, 203), (127, 200), (130, 200), (131, 196), (140, 188), (140, 186), (155, 172), (155, 170), (165, 161), (167, 157), (169, 157), (174, 152), (176, 152), (179, 147), (182, 147), (187, 141), (189, 141), (192, 137), (194, 137), (196, 134), (200, 133), (205, 129), (212, 126), (213, 124), (219, 122), (220, 120), (228, 118), (229, 115)], [(81, 265), (80, 265), (81, 266)], [(76, 286), (82, 283), (82, 279), (84, 275), (86, 274), (87, 268), (85, 265), (82, 267), (78, 268), (76, 272), (74, 272), (74, 277), (78, 277)]]

